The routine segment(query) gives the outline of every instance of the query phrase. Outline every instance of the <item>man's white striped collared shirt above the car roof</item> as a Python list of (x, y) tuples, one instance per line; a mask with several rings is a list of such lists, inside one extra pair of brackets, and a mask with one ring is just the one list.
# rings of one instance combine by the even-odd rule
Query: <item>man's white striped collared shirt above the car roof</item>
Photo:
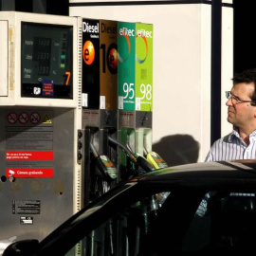
[(228, 136), (221, 137), (213, 143), (205, 161), (237, 159), (256, 159), (256, 130), (249, 135), (247, 145), (239, 136), (238, 129), (235, 128)]

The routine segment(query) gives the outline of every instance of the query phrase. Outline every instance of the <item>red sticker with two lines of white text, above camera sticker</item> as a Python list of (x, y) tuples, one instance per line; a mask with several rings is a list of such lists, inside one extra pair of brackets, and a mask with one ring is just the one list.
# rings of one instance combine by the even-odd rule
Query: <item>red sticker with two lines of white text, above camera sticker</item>
[(53, 160), (53, 151), (7, 151), (7, 160)]

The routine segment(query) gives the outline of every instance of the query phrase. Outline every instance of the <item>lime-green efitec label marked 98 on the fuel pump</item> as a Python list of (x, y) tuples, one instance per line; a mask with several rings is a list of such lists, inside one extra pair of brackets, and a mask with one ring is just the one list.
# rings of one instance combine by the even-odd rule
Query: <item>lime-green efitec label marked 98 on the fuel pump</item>
[(153, 111), (153, 25), (136, 25), (136, 110)]

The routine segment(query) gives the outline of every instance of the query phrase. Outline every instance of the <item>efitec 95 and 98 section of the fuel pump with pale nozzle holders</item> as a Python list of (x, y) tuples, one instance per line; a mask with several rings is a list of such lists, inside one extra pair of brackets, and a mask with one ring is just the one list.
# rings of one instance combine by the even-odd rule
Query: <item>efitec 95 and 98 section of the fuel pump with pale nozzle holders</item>
[[(140, 155), (152, 151), (153, 25), (119, 22), (119, 141)], [(119, 153), (120, 179), (131, 161)]]

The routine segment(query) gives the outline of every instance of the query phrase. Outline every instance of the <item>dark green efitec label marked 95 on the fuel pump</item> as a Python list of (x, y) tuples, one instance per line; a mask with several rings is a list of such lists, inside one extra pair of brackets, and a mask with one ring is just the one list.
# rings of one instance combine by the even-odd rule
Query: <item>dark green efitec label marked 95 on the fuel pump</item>
[(135, 110), (136, 24), (119, 22), (119, 109)]

